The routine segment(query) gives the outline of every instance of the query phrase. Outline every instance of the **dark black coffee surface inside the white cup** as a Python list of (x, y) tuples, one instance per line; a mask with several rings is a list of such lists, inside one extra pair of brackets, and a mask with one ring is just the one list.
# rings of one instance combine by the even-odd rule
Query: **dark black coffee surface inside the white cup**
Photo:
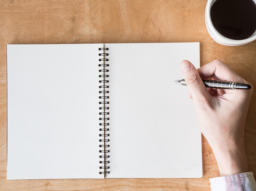
[(211, 19), (224, 37), (246, 39), (256, 30), (256, 4), (252, 0), (217, 0), (211, 9)]

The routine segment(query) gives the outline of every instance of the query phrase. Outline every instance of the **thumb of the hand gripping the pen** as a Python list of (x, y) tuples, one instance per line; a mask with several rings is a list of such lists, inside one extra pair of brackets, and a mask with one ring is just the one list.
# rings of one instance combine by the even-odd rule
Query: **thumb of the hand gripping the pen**
[(181, 71), (193, 99), (198, 103), (210, 103), (211, 95), (208, 93), (198, 71), (193, 64), (187, 60), (183, 60), (181, 62)]

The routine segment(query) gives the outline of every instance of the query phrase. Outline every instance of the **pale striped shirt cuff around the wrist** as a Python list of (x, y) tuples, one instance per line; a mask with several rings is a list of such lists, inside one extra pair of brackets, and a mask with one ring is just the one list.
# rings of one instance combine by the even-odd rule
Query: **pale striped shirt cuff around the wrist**
[(252, 172), (210, 178), (212, 191), (252, 191), (256, 190), (256, 182)]

